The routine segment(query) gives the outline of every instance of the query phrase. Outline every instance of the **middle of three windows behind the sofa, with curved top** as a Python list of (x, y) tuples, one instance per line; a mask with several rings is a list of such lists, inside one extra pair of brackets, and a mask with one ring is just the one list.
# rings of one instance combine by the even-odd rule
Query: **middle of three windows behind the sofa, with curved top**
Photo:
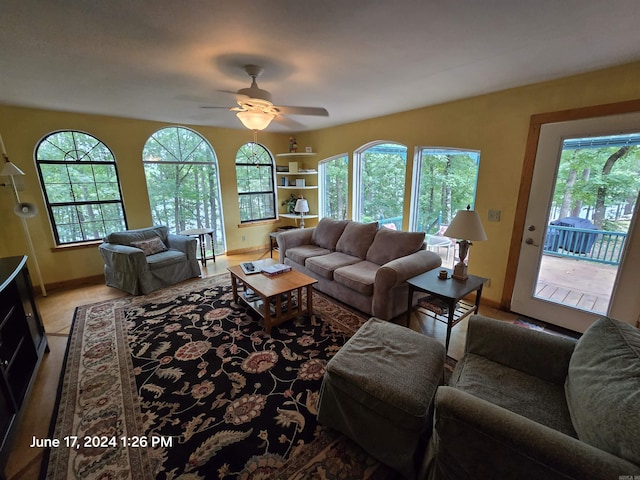
[(354, 220), (402, 229), (407, 147), (377, 143), (356, 152)]

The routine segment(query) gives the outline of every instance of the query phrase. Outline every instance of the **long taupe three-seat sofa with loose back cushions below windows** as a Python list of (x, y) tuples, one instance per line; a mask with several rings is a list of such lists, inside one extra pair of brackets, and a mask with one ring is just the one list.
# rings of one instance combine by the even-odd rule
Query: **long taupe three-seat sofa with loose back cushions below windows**
[(318, 280), (317, 290), (383, 320), (406, 312), (407, 279), (442, 264), (423, 232), (351, 220), (283, 232), (278, 248), (282, 263)]

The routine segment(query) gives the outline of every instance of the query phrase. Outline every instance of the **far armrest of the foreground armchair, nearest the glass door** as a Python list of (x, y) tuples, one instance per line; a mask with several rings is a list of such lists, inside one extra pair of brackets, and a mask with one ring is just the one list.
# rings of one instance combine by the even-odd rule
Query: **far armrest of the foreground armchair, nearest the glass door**
[(575, 344), (571, 338), (473, 315), (469, 319), (465, 352), (562, 385)]

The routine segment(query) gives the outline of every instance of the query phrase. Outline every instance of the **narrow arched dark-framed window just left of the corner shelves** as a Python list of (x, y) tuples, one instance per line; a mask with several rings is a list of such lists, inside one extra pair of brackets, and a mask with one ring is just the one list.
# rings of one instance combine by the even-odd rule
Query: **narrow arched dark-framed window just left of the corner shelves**
[(236, 154), (240, 222), (276, 218), (273, 157), (257, 143), (245, 143)]

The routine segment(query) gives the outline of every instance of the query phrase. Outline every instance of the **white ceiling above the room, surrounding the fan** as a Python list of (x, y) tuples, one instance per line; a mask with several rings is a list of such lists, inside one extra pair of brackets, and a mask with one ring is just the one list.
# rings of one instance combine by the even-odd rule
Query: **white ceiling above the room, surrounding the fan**
[[(243, 128), (220, 90), (265, 68), (303, 131), (640, 60), (638, 0), (15, 0), (0, 103)], [(639, 79), (640, 81), (640, 79)]]

